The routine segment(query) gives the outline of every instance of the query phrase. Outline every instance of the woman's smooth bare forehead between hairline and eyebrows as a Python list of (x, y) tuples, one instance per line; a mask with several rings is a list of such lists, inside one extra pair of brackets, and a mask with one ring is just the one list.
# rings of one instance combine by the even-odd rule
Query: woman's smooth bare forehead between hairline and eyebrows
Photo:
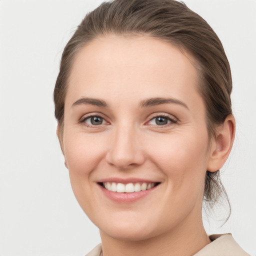
[(172, 44), (149, 36), (99, 37), (76, 55), (67, 100), (105, 98), (106, 91), (109, 100), (129, 92), (140, 100), (166, 93), (187, 97), (197, 93), (198, 75), (191, 59)]

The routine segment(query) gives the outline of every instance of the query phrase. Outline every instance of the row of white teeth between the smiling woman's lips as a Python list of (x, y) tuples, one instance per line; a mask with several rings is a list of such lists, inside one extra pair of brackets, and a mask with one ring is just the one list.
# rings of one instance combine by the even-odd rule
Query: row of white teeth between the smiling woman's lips
[(135, 182), (127, 184), (119, 182), (99, 182), (99, 184), (111, 192), (132, 193), (151, 189), (160, 184), (160, 182)]

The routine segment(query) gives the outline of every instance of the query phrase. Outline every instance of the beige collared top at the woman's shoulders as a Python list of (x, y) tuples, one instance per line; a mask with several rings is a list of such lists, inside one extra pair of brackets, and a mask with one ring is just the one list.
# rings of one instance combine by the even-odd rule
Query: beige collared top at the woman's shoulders
[[(234, 240), (230, 233), (212, 234), (209, 236), (211, 243), (196, 252), (193, 256), (250, 256)], [(85, 256), (99, 256), (101, 244), (98, 244)]]

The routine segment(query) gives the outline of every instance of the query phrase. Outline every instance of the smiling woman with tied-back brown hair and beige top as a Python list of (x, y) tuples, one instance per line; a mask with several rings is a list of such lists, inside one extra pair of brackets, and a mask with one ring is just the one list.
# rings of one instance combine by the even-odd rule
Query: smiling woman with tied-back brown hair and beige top
[(54, 102), (72, 189), (100, 230), (87, 255), (248, 255), (201, 216), (225, 195), (231, 89), (221, 42), (182, 3), (114, 0), (85, 16)]

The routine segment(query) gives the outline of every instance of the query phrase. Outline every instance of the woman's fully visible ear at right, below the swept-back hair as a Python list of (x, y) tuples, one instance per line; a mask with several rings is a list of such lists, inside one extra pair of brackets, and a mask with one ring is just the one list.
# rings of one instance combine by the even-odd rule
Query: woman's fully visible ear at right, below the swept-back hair
[(216, 171), (225, 163), (234, 141), (235, 120), (229, 114), (224, 123), (217, 127), (216, 139), (212, 141), (209, 159), (207, 164), (208, 171)]

